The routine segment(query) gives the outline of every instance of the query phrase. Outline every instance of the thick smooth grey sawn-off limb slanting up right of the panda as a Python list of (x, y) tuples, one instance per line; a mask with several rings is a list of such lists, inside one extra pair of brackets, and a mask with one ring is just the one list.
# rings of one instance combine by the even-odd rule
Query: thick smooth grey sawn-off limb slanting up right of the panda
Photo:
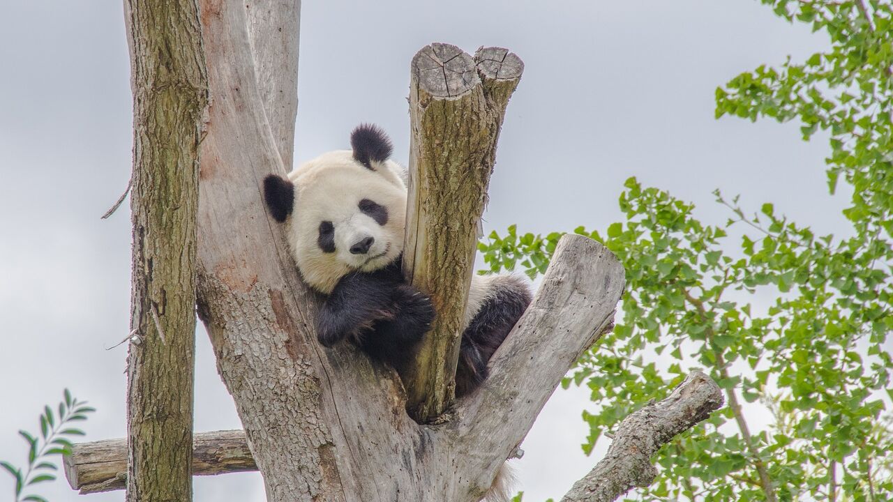
[(472, 468), (480, 486), (530, 431), (568, 368), (612, 325), (624, 275), (595, 240), (568, 234), (558, 241), (537, 296), (491, 359), (484, 387), (457, 409), (460, 449), (480, 461)]

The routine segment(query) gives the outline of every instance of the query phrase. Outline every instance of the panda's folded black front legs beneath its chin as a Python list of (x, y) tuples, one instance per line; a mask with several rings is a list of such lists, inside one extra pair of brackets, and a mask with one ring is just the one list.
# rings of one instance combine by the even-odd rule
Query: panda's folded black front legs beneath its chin
[(401, 260), (376, 272), (344, 276), (322, 304), (320, 343), (351, 339), (369, 356), (404, 367), (434, 321), (430, 297), (405, 284)]

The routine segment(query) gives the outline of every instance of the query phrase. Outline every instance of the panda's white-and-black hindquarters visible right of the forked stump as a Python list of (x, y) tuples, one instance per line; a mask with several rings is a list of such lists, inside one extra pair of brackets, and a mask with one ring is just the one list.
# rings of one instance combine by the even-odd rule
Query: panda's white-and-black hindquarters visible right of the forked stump
[(490, 357), (521, 319), (532, 295), (527, 280), (505, 275), (472, 277), (467, 310), (472, 316), (462, 334), (455, 394), (471, 394), (487, 379)]

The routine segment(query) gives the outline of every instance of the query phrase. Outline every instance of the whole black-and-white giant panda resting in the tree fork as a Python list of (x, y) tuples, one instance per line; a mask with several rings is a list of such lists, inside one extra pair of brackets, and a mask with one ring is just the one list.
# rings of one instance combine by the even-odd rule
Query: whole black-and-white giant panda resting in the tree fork
[[(285, 223), (298, 270), (326, 296), (317, 320), (319, 341), (351, 339), (369, 356), (404, 366), (434, 320), (430, 297), (401, 272), (406, 212), (402, 168), (389, 160), (383, 131), (361, 125), (353, 150), (329, 152), (288, 174), (263, 180), (267, 207)], [(526, 280), (475, 275), (469, 291), (456, 395), (487, 378), (490, 356), (530, 304)]]

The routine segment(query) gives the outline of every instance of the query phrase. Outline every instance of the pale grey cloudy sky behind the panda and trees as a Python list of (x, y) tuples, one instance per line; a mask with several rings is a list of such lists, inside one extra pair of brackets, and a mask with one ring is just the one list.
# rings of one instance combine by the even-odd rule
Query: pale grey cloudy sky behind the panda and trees
[[(129, 327), (129, 59), (111, 0), (0, 0), (0, 460), (24, 464), (16, 431), (64, 388), (98, 412), (86, 439), (125, 434)], [(302, 7), (296, 160), (346, 148), (350, 130), (388, 130), (408, 157), (409, 62), (430, 42), (505, 46), (525, 71), (505, 116), (485, 230), (604, 230), (637, 176), (722, 223), (720, 188), (772, 201), (819, 233), (843, 232), (847, 195), (828, 195), (827, 145), (796, 124), (714, 119), (714, 89), (741, 71), (805, 59), (826, 43), (755, 0), (347, 2)], [(113, 347), (113, 348), (109, 348)], [(585, 389), (558, 390), (514, 462), (525, 501), (560, 498), (596, 463), (580, 450)], [(589, 406), (591, 409), (591, 406)], [(757, 411), (758, 415), (758, 411)], [(756, 423), (761, 417), (756, 416)], [(765, 421), (764, 421), (765, 422)], [(203, 328), (196, 333), (196, 431), (239, 428)], [(196, 501), (262, 501), (257, 473), (196, 478)], [(53, 501), (65, 481), (38, 485)], [(0, 500), (13, 489), (0, 473)]]

